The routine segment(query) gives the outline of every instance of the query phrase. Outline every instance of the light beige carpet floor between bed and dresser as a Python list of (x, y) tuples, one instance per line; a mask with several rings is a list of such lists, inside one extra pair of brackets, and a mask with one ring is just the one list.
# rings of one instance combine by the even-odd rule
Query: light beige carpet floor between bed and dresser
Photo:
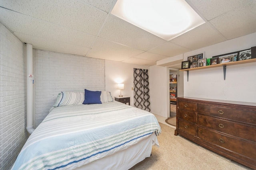
[(251, 170), (180, 135), (175, 136), (174, 128), (159, 124), (162, 128), (158, 136), (160, 148), (153, 146), (152, 156), (130, 170)]

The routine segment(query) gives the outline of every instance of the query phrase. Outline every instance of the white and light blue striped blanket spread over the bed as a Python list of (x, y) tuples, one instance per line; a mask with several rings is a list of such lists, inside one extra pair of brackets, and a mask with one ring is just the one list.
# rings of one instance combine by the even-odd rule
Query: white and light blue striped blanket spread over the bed
[(55, 107), (30, 135), (12, 169), (74, 169), (152, 133), (161, 133), (152, 113), (120, 102)]

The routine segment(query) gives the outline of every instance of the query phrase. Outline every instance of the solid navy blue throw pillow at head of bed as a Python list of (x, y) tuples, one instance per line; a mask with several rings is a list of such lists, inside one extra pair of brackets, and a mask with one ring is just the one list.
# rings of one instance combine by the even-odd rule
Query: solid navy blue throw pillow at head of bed
[(84, 89), (84, 102), (83, 104), (102, 104), (100, 101), (101, 91), (90, 91)]

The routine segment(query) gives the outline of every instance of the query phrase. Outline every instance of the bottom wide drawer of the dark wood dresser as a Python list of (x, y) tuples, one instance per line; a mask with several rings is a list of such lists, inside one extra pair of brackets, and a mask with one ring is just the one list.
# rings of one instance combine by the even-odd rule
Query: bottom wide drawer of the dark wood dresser
[(198, 138), (256, 160), (256, 144), (198, 127)]

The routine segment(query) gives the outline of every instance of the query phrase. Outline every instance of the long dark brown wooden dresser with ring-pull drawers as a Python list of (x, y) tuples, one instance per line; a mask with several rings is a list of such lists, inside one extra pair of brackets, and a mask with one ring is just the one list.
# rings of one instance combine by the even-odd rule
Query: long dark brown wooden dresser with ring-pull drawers
[(256, 169), (255, 103), (181, 97), (176, 121), (174, 135)]

